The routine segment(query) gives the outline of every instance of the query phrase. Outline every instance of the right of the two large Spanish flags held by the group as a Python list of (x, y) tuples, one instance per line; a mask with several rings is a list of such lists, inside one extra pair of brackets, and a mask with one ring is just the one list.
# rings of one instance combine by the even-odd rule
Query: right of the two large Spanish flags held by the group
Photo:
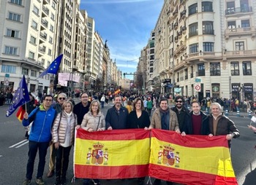
[(149, 176), (189, 185), (237, 184), (225, 136), (151, 132)]

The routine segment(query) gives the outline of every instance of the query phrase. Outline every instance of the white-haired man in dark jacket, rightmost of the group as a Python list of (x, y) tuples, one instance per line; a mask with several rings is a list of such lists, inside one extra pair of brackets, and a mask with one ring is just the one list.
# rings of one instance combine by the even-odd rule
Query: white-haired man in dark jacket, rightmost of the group
[(226, 135), (229, 148), (231, 146), (231, 139), (240, 136), (234, 122), (222, 114), (222, 106), (216, 102), (211, 103), (209, 127), (212, 135)]

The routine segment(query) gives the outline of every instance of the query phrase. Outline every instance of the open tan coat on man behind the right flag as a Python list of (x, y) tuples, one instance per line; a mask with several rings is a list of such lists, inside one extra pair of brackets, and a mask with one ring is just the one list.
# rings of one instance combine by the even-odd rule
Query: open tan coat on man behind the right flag
[[(161, 113), (159, 109), (154, 111), (152, 117), (151, 117), (151, 124), (150, 127), (162, 129), (161, 125)], [(176, 131), (178, 129), (178, 118), (176, 116), (176, 113), (172, 110), (170, 110), (170, 124), (169, 124), (169, 130)]]

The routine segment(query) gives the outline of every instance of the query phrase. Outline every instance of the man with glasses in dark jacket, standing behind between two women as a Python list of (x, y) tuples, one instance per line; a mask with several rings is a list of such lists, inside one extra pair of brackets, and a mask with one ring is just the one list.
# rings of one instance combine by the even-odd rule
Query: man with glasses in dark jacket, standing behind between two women
[(89, 95), (86, 92), (80, 94), (80, 103), (74, 106), (73, 112), (78, 117), (78, 125), (81, 125), (83, 116), (89, 111), (91, 102), (89, 101)]

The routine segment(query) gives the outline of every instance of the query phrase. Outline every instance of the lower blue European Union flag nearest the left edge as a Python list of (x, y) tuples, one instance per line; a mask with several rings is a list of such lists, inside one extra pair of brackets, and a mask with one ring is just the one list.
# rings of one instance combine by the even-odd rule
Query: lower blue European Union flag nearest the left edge
[(29, 90), (28, 87), (26, 87), (26, 79), (25, 76), (23, 75), (23, 78), (20, 81), (19, 87), (15, 92), (15, 95), (12, 98), (11, 105), (9, 109), (7, 110), (6, 117), (10, 117), (12, 113), (19, 107), (22, 106), (23, 104), (27, 103), (30, 101), (29, 98)]

